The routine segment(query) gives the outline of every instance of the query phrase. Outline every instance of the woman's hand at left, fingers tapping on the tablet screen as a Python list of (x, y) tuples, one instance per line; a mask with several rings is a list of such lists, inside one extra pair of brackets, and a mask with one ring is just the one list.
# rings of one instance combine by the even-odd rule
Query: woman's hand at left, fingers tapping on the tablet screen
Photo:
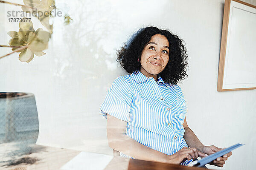
[(168, 155), (167, 163), (169, 164), (180, 164), (183, 161), (196, 159), (198, 156), (204, 156), (204, 153), (201, 153), (195, 147), (183, 147), (173, 155)]

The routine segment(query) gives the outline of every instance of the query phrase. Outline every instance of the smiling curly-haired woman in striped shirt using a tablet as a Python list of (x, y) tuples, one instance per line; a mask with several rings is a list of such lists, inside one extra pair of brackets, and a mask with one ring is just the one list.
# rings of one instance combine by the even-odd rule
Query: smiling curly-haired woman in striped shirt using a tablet
[[(114, 80), (100, 107), (111, 148), (120, 156), (182, 165), (221, 150), (204, 146), (186, 123), (177, 82), (187, 77), (187, 54), (177, 35), (145, 27), (117, 55), (130, 75)], [(223, 167), (231, 154), (212, 164)]]

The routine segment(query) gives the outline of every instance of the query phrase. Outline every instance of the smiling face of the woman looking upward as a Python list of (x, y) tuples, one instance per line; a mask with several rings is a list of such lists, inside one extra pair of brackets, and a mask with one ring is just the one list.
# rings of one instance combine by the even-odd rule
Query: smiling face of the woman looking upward
[(140, 59), (140, 72), (146, 77), (157, 77), (169, 61), (169, 42), (161, 34), (155, 34), (145, 45)]

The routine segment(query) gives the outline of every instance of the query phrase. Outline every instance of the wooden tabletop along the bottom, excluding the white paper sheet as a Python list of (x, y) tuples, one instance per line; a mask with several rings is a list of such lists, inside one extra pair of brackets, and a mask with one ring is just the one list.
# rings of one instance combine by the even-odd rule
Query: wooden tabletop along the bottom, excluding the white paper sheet
[[(31, 146), (31, 152), (29, 154), (8, 156), (8, 153), (14, 152), (19, 153), (19, 150), (15, 147), (15, 143), (0, 144), (1, 170), (59, 170), (63, 165), (67, 164), (67, 162), (81, 153), (81, 151), (77, 150), (37, 144)], [(99, 164), (100, 163), (99, 160)], [(83, 164), (83, 166), (86, 167), (87, 165)], [(78, 167), (81, 169), (80, 164), (78, 164)], [(204, 168), (186, 167), (115, 156), (104, 170), (204, 170)]]

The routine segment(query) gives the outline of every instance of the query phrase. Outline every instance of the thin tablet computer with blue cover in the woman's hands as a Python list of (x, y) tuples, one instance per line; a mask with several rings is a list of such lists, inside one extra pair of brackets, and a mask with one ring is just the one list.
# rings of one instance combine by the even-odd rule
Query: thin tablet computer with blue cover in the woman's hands
[(238, 143), (238, 144), (234, 144), (233, 146), (230, 146), (226, 149), (223, 149), (223, 150), (220, 150), (216, 153), (213, 153), (212, 155), (209, 155), (207, 157), (204, 157), (203, 159), (201, 160), (195, 160), (195, 161), (192, 161), (188, 166), (189, 167), (202, 167), (203, 165), (205, 164), (208, 164), (210, 163), (211, 161), (213, 161), (214, 159), (217, 159), (218, 157), (221, 157), (223, 155), (225, 155), (226, 153), (229, 153), (231, 150), (234, 150), (240, 146), (242, 146), (244, 144), (241, 144), (241, 143)]

